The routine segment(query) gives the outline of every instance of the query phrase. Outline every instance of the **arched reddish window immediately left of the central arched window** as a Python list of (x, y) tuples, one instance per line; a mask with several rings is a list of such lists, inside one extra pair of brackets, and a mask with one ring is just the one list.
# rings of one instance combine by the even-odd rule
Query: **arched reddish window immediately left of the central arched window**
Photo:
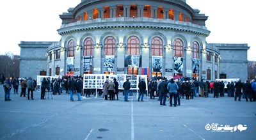
[(116, 40), (112, 36), (108, 36), (104, 40), (104, 55), (115, 55)]

